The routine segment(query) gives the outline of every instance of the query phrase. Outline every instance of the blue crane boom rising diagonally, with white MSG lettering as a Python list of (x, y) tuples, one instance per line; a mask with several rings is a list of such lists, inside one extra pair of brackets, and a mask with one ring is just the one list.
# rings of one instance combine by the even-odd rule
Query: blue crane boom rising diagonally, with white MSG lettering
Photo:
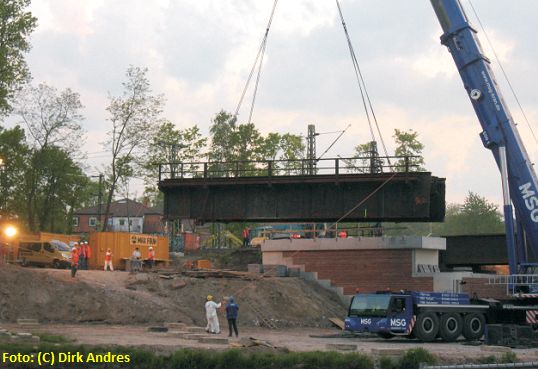
[[(511, 203), (522, 225), (527, 246), (538, 256), (538, 181), (514, 120), (499, 90), (477, 31), (469, 24), (459, 0), (431, 0), (463, 85), (482, 126), (480, 137), (501, 171), (510, 273), (528, 262), (523, 241), (514, 243)], [(511, 201), (510, 201), (511, 200)]]

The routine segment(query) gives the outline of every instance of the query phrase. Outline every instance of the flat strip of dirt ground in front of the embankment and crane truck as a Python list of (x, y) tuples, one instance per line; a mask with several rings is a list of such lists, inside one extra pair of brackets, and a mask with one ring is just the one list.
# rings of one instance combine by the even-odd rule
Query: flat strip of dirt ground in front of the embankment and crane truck
[[(223, 324), (221, 319), (221, 324)], [(225, 324), (225, 323), (224, 323)], [(239, 343), (240, 340), (232, 338), (229, 344), (205, 344), (196, 340), (176, 337), (173, 333), (149, 332), (145, 325), (104, 325), (104, 324), (41, 324), (34, 327), (22, 327), (17, 324), (2, 324), (11, 332), (50, 333), (62, 335), (74, 344), (98, 346), (136, 346), (155, 352), (172, 352), (181, 348), (204, 348), (212, 350), (226, 350), (230, 343)], [(227, 338), (226, 326), (223, 333), (212, 337)], [(331, 351), (328, 344), (356, 345), (354, 352), (361, 352), (374, 357), (399, 356), (406, 350), (422, 347), (437, 355), (445, 361), (452, 363), (468, 363), (473, 359), (485, 356), (501, 356), (507, 350), (505, 347), (467, 345), (464, 341), (454, 343), (421, 343), (405, 338), (384, 340), (373, 335), (364, 335), (355, 338), (329, 337), (339, 334), (335, 328), (282, 328), (267, 329), (260, 327), (241, 327), (241, 337), (253, 337), (270, 343), (278, 349), (290, 351)], [(325, 337), (323, 337), (325, 336)], [(260, 349), (260, 347), (257, 347)], [(261, 348), (270, 350), (267, 348)], [(252, 350), (243, 348), (242, 350)], [(349, 351), (346, 351), (349, 352)], [(538, 349), (512, 349), (520, 361), (538, 361)]]

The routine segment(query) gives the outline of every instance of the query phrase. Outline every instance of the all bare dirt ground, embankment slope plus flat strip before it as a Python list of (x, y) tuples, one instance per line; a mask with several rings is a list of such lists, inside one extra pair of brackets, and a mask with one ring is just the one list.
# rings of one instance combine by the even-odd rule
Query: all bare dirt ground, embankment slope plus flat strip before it
[[(225, 350), (241, 346), (241, 338), (253, 337), (274, 348), (262, 345), (244, 350), (332, 351), (334, 344), (343, 344), (355, 345), (354, 351), (367, 354), (399, 355), (423, 347), (456, 362), (500, 356), (510, 350), (463, 341), (338, 337), (342, 331), (328, 319), (344, 319), (346, 307), (332, 292), (299, 278), (194, 278), (170, 271), (129, 274), (101, 270), (82, 270), (71, 278), (69, 270), (1, 265), (0, 281), (0, 328), (12, 333), (59, 335), (73, 344), (147, 347), (158, 352), (185, 347)], [(240, 305), (239, 339), (234, 337), (225, 344), (202, 343), (148, 329), (169, 322), (202, 329), (208, 294), (216, 300), (236, 297)], [(219, 315), (223, 332), (209, 337), (228, 338), (223, 312)], [(39, 324), (20, 325), (18, 319), (36, 319)], [(263, 321), (277, 329), (260, 326)], [(537, 348), (511, 350), (520, 360), (538, 360)]]

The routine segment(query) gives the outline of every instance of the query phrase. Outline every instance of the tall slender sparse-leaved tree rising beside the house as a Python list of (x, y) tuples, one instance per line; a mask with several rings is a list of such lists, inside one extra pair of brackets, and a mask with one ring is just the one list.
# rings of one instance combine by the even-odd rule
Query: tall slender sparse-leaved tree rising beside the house
[(160, 124), (164, 105), (162, 95), (152, 95), (147, 68), (130, 66), (127, 80), (122, 83), (123, 94), (110, 97), (107, 111), (112, 124), (105, 146), (112, 153), (112, 162), (108, 168), (108, 194), (102, 230), (107, 228), (110, 204), (118, 181), (130, 177), (135, 170), (143, 166), (142, 158), (152, 137)]

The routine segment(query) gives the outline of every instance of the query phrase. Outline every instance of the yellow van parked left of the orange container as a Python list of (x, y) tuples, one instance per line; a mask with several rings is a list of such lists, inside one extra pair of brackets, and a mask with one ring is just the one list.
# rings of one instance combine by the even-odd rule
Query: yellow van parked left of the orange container
[(71, 264), (71, 249), (67, 244), (57, 240), (21, 242), (18, 259), (23, 266), (67, 268)]

